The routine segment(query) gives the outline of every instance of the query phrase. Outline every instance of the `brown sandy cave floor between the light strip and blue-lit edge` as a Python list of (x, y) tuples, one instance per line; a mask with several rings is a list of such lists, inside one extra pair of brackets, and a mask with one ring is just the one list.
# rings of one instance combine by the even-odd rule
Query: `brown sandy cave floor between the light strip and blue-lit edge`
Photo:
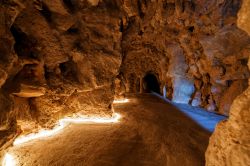
[(8, 150), (17, 165), (200, 166), (211, 133), (177, 107), (147, 94), (114, 104), (114, 124), (70, 124)]

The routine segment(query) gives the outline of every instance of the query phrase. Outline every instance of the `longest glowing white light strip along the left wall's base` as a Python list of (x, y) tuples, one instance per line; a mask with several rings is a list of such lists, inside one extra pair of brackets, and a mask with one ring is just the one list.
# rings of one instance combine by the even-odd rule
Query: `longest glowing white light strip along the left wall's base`
[(58, 125), (52, 130), (40, 130), (38, 133), (31, 133), (28, 135), (20, 136), (15, 139), (13, 145), (19, 145), (34, 139), (52, 136), (70, 123), (116, 123), (119, 122), (121, 115), (114, 113), (112, 118), (88, 118), (88, 117), (76, 117), (76, 118), (64, 118), (60, 119)]

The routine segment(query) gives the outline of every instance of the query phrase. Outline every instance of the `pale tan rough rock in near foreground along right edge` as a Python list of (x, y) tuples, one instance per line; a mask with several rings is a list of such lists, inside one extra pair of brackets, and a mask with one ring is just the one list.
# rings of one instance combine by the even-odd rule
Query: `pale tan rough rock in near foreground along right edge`
[[(238, 26), (250, 35), (250, 0), (244, 0), (238, 14)], [(248, 54), (249, 56), (250, 54)], [(250, 60), (248, 61), (250, 68)], [(236, 85), (238, 86), (238, 85)], [(231, 90), (230, 90), (231, 91)], [(232, 90), (233, 91), (233, 90)], [(249, 165), (250, 163), (250, 87), (238, 96), (229, 119), (219, 123), (206, 151), (207, 166)]]

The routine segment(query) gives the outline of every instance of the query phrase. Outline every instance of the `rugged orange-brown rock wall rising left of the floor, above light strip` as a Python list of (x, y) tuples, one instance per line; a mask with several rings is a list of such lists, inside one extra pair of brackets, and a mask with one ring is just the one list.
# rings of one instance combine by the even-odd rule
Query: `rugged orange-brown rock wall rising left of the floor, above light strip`
[(122, 60), (120, 6), (0, 1), (0, 147), (76, 112), (112, 115)]

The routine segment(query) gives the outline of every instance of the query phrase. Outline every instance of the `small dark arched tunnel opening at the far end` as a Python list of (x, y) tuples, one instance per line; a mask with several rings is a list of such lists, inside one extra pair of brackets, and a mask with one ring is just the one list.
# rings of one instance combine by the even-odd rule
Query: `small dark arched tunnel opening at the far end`
[(160, 93), (160, 86), (154, 74), (149, 73), (143, 78), (143, 89), (146, 93), (150, 93), (152, 91)]

